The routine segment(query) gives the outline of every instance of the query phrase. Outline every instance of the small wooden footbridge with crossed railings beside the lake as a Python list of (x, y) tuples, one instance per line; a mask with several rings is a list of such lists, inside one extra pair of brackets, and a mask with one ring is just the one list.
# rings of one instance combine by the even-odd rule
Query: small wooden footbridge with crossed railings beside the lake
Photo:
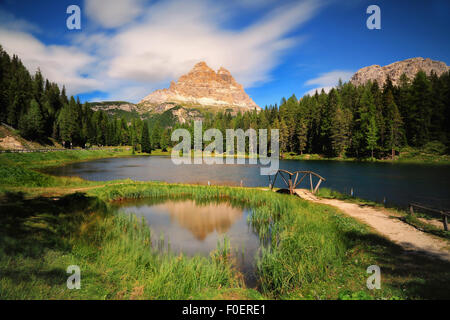
[[(277, 177), (280, 176), (284, 183), (286, 184), (286, 189), (289, 191), (289, 194), (296, 194), (298, 196), (302, 196), (300, 193), (300, 189), (297, 189), (297, 187), (302, 183), (305, 178), (309, 177), (306, 181), (309, 181), (311, 193), (315, 194), (317, 190), (319, 190), (320, 184), (322, 181), (326, 181), (325, 178), (321, 177), (315, 172), (312, 171), (294, 171), (289, 172), (287, 170), (278, 169), (277, 173), (275, 173), (273, 181), (270, 183), (270, 189), (272, 190), (275, 182), (277, 180)], [(300, 179), (299, 179), (300, 177)], [(314, 184), (314, 180), (317, 182)]]

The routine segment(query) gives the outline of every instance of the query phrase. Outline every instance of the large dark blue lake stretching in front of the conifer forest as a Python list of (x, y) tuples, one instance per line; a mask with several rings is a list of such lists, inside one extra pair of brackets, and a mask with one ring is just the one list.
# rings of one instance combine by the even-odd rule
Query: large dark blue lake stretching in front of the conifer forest
[[(405, 207), (419, 202), (437, 208), (450, 208), (450, 166), (428, 164), (359, 163), (339, 161), (280, 160), (280, 169), (311, 170), (327, 181), (327, 187), (354, 196)], [(87, 180), (159, 180), (219, 185), (268, 186), (267, 176), (258, 165), (175, 165), (170, 157), (136, 156), (101, 159), (47, 169), (59, 176), (79, 176)], [(277, 179), (278, 180), (278, 179)], [(300, 187), (307, 188), (308, 179)], [(282, 180), (276, 186), (282, 187)]]

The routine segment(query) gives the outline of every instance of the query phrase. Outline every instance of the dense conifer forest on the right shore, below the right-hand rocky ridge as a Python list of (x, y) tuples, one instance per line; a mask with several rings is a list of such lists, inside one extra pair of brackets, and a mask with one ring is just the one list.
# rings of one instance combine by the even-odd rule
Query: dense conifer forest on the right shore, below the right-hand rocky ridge
[[(354, 86), (340, 82), (325, 93), (283, 98), (261, 112), (218, 113), (203, 129), (278, 128), (280, 151), (328, 157), (393, 157), (401, 147), (450, 149), (450, 73), (440, 77), (419, 71), (403, 75), (397, 86), (387, 79)], [(192, 124), (188, 126), (192, 130)]]

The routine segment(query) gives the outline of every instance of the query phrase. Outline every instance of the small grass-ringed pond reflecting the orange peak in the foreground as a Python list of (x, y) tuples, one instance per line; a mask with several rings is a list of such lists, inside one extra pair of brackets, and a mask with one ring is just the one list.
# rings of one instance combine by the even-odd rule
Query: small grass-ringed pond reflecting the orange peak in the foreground
[(175, 254), (209, 256), (226, 237), (235, 265), (248, 286), (256, 285), (255, 257), (260, 241), (247, 223), (251, 211), (228, 202), (193, 200), (129, 200), (121, 211), (144, 218), (151, 229), (153, 247)]

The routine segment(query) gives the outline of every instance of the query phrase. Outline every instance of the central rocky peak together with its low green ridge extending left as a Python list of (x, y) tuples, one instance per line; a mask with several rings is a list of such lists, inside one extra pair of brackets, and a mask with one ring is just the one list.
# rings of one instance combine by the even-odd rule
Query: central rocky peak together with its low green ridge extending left
[(103, 110), (111, 116), (119, 115), (127, 120), (163, 117), (180, 123), (201, 119), (203, 111), (227, 110), (236, 113), (261, 110), (228, 70), (222, 67), (216, 72), (205, 62), (197, 63), (177, 82), (172, 81), (168, 89), (156, 90), (138, 104), (106, 101), (89, 105), (94, 111)]

